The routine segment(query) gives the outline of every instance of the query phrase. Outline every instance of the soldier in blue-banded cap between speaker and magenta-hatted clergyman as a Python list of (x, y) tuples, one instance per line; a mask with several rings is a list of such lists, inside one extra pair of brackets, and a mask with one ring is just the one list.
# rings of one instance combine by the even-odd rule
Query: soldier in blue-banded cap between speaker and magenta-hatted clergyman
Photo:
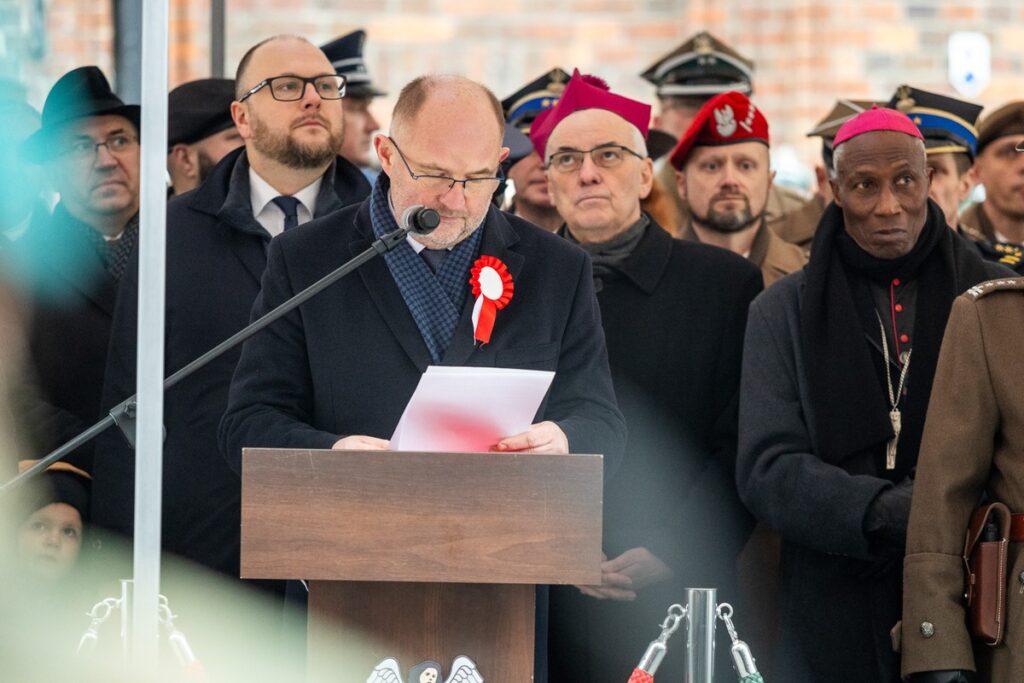
[[(558, 102), (568, 80), (569, 75), (555, 67), (519, 88), (502, 100), (505, 121), (528, 135), (537, 116)], [(540, 155), (530, 147), (519, 159), (512, 159), (510, 155), (509, 161), (506, 174), (515, 185), (515, 197), (507, 207), (508, 211), (546, 230), (557, 230), (562, 225), (562, 219), (548, 194), (548, 180)]]

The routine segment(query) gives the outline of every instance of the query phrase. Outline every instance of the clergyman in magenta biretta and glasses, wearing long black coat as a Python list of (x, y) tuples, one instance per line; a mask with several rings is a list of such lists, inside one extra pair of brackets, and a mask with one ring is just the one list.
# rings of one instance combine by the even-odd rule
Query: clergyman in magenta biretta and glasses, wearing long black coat
[[(602, 581), (551, 594), (553, 681), (620, 683), (653, 614), (687, 586), (733, 600), (750, 528), (732, 483), (746, 307), (761, 273), (739, 256), (673, 240), (640, 206), (653, 181), (650, 106), (572, 75), (530, 128), (559, 234), (590, 254), (608, 360), (629, 427), (605, 480)], [(685, 648), (658, 680), (682, 680)], [(728, 671), (728, 648), (719, 664)]]

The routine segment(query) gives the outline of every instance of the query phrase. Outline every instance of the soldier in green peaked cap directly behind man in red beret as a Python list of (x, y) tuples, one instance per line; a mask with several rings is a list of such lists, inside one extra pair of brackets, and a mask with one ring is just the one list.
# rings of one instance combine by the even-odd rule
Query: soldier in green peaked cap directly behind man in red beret
[[(712, 97), (723, 92), (735, 91), (750, 95), (754, 91), (754, 62), (739, 52), (701, 31), (685, 43), (660, 57), (641, 75), (655, 87), (658, 112), (652, 127), (682, 137), (700, 108)], [(673, 190), (675, 174), (665, 164), (655, 175), (675, 201), (678, 216), (665, 227), (678, 233), (689, 222), (686, 201)], [(801, 209), (807, 200), (793, 190), (772, 185), (767, 204), (768, 222), (773, 229), (788, 214)], [(793, 230), (781, 227), (777, 231), (788, 234)]]

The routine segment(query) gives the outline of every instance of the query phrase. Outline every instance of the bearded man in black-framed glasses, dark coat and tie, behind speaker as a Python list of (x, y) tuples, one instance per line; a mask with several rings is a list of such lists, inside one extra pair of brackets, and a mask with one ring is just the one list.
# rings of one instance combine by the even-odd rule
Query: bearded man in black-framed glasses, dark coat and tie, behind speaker
[[(178, 370), (249, 323), (273, 236), (369, 196), (336, 157), (345, 80), (314, 45), (275, 36), (242, 58), (231, 102), (245, 142), (195, 191), (167, 208), (166, 370)], [(109, 408), (135, 391), (137, 258), (114, 316), (103, 391)], [(240, 482), (220, 455), (217, 424), (239, 357), (228, 352), (165, 396), (165, 550), (239, 575)], [(131, 533), (134, 458), (100, 437), (93, 521)]]

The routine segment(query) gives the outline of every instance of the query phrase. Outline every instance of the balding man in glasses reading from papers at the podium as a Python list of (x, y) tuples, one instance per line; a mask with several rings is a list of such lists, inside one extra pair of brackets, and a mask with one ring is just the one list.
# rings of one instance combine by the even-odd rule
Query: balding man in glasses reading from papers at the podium
[[(241, 470), (245, 446), (386, 449), (428, 366), (555, 371), (537, 422), (496, 451), (593, 453), (606, 476), (625, 443), (589, 258), (490, 205), (499, 184), (501, 104), (454, 76), (407, 85), (390, 135), (375, 140), (383, 174), (371, 198), (270, 244), (260, 316), (398, 227), (410, 207), (441, 216), (383, 258), (249, 340), (220, 425)], [(479, 229), (478, 229), (479, 228)], [(507, 268), (511, 299), (486, 343), (473, 325), (471, 271)]]

